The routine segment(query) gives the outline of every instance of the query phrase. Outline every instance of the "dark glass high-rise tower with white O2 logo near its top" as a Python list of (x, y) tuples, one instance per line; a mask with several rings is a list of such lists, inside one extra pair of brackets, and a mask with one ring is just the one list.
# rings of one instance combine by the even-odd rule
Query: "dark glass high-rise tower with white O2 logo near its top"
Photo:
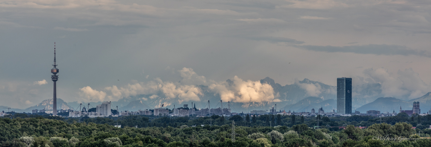
[(337, 78), (337, 113), (352, 113), (352, 78)]

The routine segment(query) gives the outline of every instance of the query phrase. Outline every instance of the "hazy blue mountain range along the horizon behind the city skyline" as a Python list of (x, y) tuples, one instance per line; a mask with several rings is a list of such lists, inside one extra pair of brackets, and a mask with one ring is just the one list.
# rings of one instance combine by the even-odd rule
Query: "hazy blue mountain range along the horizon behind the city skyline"
[[(231, 83), (230, 79), (226, 82)], [(281, 102), (264, 102), (264, 103), (238, 103), (230, 102), (231, 109), (234, 112), (250, 112), (251, 110), (265, 110), (271, 109), (277, 104), (277, 111), (284, 109), (286, 111), (310, 111), (311, 109), (322, 109), (325, 112), (331, 112), (337, 109), (336, 106), (336, 87), (323, 84), (319, 81), (311, 81), (307, 78), (302, 81), (295, 81), (294, 84), (286, 84), (281, 86), (281, 84), (275, 83), (272, 78), (266, 77), (260, 80), (262, 84), (269, 84), (274, 89), (274, 93), (278, 95), (277, 99)], [(162, 93), (155, 94), (139, 94), (129, 97), (123, 97), (117, 101), (112, 101), (112, 109), (116, 109), (118, 106), (119, 110), (136, 111), (137, 109), (154, 109), (160, 107), (164, 104), (165, 108), (173, 109), (174, 105), (176, 107), (183, 106), (183, 104), (192, 103), (196, 105), (197, 109), (208, 108), (208, 100), (210, 101), (211, 108), (223, 107), (227, 108), (227, 102), (220, 103), (220, 95), (215, 94), (206, 85), (196, 85), (199, 89), (200, 94), (198, 95), (200, 101), (184, 101), (175, 98), (166, 97)], [(158, 97), (154, 97), (157, 95)], [(425, 109), (431, 107), (431, 93), (425, 94), (423, 97), (417, 99), (403, 101), (396, 98), (383, 97), (381, 94), (380, 84), (369, 84), (365, 83), (362, 85), (353, 85), (353, 97), (352, 97), (352, 108), (353, 112), (356, 110), (361, 113), (366, 113), (367, 110), (379, 110), (381, 112), (392, 112), (396, 107), (396, 112), (398, 113), (399, 107), (402, 106), (403, 109), (410, 110), (413, 101), (421, 102), (422, 112)], [(61, 99), (57, 99), (57, 109), (73, 109), (77, 108), (81, 102), (69, 102), (66, 103)], [(96, 107), (96, 105), (102, 102), (90, 102), (90, 108)], [(223, 106), (222, 106), (223, 104)], [(87, 106), (87, 103), (83, 103)], [(1, 106), (4, 107), (4, 106)], [(190, 107), (190, 106), (189, 106)], [(52, 99), (44, 100), (35, 106), (31, 106), (27, 109), (11, 109), (11, 111), (16, 112), (31, 112), (32, 109), (52, 109)], [(425, 108), (425, 109), (424, 109)], [(4, 108), (3, 108), (4, 109)]]

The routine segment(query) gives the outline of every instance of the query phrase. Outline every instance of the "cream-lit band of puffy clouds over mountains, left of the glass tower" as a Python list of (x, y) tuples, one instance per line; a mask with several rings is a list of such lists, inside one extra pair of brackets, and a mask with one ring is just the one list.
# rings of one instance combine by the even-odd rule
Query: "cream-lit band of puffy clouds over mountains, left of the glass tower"
[(168, 99), (179, 99), (185, 102), (191, 100), (200, 101), (200, 96), (203, 94), (200, 88), (197, 88), (198, 84), (208, 86), (210, 91), (219, 94), (224, 101), (240, 103), (281, 101), (276, 99), (279, 95), (274, 92), (271, 85), (262, 84), (259, 81), (244, 81), (237, 76), (228, 81), (206, 81), (204, 76), (197, 75), (191, 68), (183, 68), (176, 71), (176, 73), (182, 78), (179, 82), (162, 81), (160, 78), (155, 78), (153, 81), (136, 82), (120, 88), (112, 85), (100, 91), (86, 86), (81, 88), (81, 95), (84, 97), (82, 101), (88, 101), (89, 99), (114, 101), (122, 97), (138, 94), (154, 94), (149, 97), (150, 99), (163, 96)]

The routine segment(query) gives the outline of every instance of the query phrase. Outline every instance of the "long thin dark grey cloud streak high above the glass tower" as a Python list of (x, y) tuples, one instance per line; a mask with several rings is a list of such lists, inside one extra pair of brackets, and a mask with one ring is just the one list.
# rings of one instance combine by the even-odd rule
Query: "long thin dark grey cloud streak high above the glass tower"
[(400, 45), (387, 44), (368, 44), (368, 45), (352, 45), (352, 46), (316, 46), (316, 45), (293, 45), (294, 47), (328, 53), (360, 53), (360, 54), (375, 54), (375, 55), (415, 55), (430, 58), (431, 55), (425, 50), (412, 50)]

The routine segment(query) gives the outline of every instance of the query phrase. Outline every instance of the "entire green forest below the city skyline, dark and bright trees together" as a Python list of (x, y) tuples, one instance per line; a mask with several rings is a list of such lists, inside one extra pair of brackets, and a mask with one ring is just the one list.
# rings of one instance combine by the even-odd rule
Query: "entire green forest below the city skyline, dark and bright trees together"
[[(121, 125), (121, 128), (114, 125)], [(0, 146), (425, 147), (431, 144), (431, 140), (426, 138), (431, 137), (429, 125), (431, 115), (408, 116), (406, 113), (390, 117), (237, 115), (105, 118), (14, 113), (0, 118)]]

